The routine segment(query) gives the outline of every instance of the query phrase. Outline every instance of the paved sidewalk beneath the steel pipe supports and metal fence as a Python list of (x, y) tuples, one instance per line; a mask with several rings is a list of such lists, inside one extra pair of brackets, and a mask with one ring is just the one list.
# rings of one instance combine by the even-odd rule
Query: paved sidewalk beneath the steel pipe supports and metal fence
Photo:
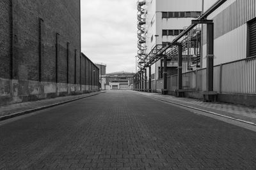
[(246, 122), (252, 122), (256, 125), (256, 107), (243, 106), (229, 103), (204, 103), (199, 99), (180, 98), (175, 96), (165, 96), (157, 93), (138, 92), (143, 96), (153, 97), (168, 101), (170, 103), (177, 103), (200, 110), (211, 111), (226, 117), (232, 117)]

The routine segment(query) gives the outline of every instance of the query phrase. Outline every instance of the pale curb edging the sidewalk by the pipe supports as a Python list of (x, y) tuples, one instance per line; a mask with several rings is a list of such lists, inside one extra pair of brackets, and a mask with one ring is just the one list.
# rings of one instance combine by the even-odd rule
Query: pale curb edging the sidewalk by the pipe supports
[[(141, 95), (146, 96), (146, 95), (143, 95), (143, 94), (141, 94)], [(146, 97), (148, 97), (148, 96), (146, 96)], [(167, 101), (167, 100), (164, 100), (164, 99), (158, 99), (157, 97), (149, 97), (149, 98), (157, 99), (159, 101), (164, 101), (166, 103), (176, 104), (176, 105), (179, 105), (179, 106), (182, 106), (182, 107), (185, 107), (185, 108), (189, 108), (189, 109), (193, 109), (193, 110), (203, 111), (203, 112), (209, 113), (211, 115), (216, 115), (216, 116), (219, 116), (219, 117), (224, 117), (224, 118), (228, 118), (228, 119), (231, 119), (231, 120), (236, 120), (238, 122), (242, 122), (242, 123), (245, 123), (245, 124), (250, 124), (250, 125), (256, 126), (256, 124), (254, 124), (253, 122), (248, 122), (246, 120), (241, 120), (241, 119), (238, 119), (238, 118), (228, 117), (228, 116), (221, 115), (219, 113), (215, 113), (215, 112), (212, 112), (212, 111), (202, 110), (200, 108), (194, 108), (192, 106), (186, 106), (185, 104), (179, 104), (179, 103), (175, 103), (175, 102), (172, 102), (172, 101)]]

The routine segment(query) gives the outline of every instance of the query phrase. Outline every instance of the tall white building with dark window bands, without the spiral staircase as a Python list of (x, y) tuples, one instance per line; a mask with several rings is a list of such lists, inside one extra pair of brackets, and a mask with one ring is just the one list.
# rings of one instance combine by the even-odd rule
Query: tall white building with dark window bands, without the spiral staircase
[[(193, 18), (200, 16), (202, 0), (147, 0), (145, 6), (146, 55), (156, 45), (166, 45), (180, 34)], [(168, 62), (176, 70), (177, 63)], [(152, 80), (162, 78), (161, 60), (151, 67)], [(173, 72), (170, 70), (170, 72)], [(175, 73), (173, 73), (175, 74)]]

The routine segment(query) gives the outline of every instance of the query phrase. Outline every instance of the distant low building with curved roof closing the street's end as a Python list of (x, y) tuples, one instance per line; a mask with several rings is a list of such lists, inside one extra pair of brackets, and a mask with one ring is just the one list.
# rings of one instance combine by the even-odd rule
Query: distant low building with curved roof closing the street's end
[(134, 73), (124, 71), (102, 75), (102, 90), (132, 89), (132, 76)]

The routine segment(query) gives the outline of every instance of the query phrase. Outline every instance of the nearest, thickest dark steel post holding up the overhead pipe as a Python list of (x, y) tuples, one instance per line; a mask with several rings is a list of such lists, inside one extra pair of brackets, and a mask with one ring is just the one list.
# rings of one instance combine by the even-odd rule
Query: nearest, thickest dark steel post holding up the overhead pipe
[(207, 24), (207, 91), (213, 91), (214, 24)]

